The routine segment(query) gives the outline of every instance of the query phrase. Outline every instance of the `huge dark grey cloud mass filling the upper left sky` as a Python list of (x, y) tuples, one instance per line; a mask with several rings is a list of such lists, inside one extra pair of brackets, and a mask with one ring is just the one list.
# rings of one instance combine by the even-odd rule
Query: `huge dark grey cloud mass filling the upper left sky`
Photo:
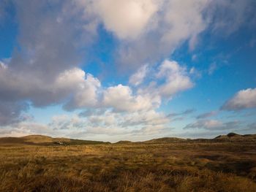
[[(69, 96), (79, 97), (75, 92), (81, 89), (91, 93), (90, 75), (78, 69), (83, 55), (79, 50), (90, 44), (83, 37), (86, 29), (80, 23), (85, 19), (80, 18), (78, 7), (71, 1), (31, 0), (12, 1), (12, 6), (17, 17), (19, 48), (14, 49), (5, 64), (0, 64), (1, 102), (7, 105), (30, 101), (43, 107), (63, 103)], [(87, 37), (91, 35), (88, 33)], [(17, 111), (22, 110), (17, 106)]]

